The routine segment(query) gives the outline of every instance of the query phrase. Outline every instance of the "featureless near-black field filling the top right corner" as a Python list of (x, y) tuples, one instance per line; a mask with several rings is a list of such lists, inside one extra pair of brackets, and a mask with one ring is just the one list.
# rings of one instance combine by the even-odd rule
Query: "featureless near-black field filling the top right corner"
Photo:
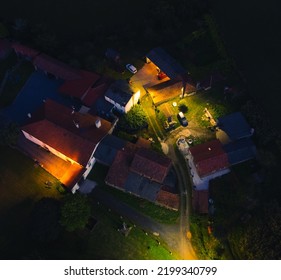
[(230, 55), (249, 92), (281, 132), (281, 2), (212, 0)]

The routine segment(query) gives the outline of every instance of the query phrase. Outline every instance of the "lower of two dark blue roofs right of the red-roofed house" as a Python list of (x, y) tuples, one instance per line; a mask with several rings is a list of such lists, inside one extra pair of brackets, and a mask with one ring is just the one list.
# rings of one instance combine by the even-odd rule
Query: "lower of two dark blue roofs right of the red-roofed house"
[(231, 165), (256, 157), (256, 147), (250, 138), (244, 138), (223, 146)]

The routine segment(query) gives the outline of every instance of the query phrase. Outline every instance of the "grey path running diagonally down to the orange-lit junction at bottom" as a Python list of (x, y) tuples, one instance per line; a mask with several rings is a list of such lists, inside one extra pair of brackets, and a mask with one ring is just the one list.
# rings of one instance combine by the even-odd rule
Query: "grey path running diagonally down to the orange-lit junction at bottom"
[(94, 190), (94, 195), (100, 202), (120, 215), (127, 217), (132, 223), (141, 227), (143, 230), (151, 234), (154, 232), (159, 233), (159, 238), (167, 244), (167, 249), (171, 251), (177, 259), (196, 259), (196, 255), (192, 250), (189, 240), (187, 240), (187, 238), (179, 238), (178, 224), (166, 225), (158, 223), (114, 198), (112, 195), (102, 191), (100, 188)]

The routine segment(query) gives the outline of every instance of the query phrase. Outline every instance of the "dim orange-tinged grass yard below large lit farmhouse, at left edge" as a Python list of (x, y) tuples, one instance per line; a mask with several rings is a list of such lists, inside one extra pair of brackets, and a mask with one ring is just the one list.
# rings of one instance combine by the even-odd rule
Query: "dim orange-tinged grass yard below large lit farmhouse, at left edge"
[(19, 151), (0, 146), (0, 155), (0, 252), (15, 257), (28, 246), (25, 234), (34, 202), (42, 197), (59, 198), (62, 189), (54, 177)]

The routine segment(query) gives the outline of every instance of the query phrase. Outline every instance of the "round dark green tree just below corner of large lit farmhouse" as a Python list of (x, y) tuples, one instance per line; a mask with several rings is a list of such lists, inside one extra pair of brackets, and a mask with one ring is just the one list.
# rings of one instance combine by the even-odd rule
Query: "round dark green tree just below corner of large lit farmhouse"
[(90, 215), (91, 207), (86, 196), (75, 193), (63, 198), (60, 223), (67, 231), (83, 229)]

